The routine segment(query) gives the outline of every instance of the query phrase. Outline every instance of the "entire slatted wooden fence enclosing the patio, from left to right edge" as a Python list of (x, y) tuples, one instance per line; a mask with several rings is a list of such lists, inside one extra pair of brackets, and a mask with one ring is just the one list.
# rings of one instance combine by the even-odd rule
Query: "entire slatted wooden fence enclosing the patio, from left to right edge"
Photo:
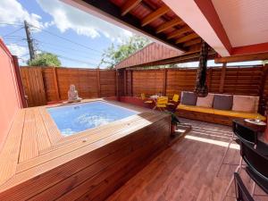
[[(210, 92), (268, 97), (268, 66), (213, 67), (207, 71)], [(54, 67), (21, 67), (29, 106), (67, 99), (70, 84), (83, 98), (104, 96), (147, 96), (161, 92), (172, 97), (195, 87), (197, 69), (96, 70)]]

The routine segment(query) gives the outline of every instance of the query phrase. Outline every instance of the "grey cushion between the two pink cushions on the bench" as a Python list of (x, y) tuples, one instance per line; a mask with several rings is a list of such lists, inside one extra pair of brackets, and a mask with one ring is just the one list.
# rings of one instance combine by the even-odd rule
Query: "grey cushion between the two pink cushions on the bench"
[(231, 110), (232, 98), (231, 95), (214, 95), (214, 109)]

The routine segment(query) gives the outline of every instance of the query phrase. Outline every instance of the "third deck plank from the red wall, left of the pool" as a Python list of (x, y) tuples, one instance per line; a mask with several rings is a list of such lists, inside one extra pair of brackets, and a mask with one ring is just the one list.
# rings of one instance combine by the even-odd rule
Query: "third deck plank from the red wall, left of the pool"
[(37, 136), (38, 136), (38, 152), (51, 147), (51, 142), (49, 140), (48, 134), (46, 132), (45, 124), (43, 118), (39, 112), (39, 108), (34, 109), (36, 125), (37, 125)]

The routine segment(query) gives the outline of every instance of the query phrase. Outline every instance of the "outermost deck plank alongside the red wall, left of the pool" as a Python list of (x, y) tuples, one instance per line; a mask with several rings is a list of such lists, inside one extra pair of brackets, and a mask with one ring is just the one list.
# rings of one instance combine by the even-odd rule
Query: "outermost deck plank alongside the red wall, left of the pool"
[(0, 185), (13, 177), (16, 172), (21, 147), (24, 113), (24, 110), (20, 110), (17, 113), (0, 153)]

